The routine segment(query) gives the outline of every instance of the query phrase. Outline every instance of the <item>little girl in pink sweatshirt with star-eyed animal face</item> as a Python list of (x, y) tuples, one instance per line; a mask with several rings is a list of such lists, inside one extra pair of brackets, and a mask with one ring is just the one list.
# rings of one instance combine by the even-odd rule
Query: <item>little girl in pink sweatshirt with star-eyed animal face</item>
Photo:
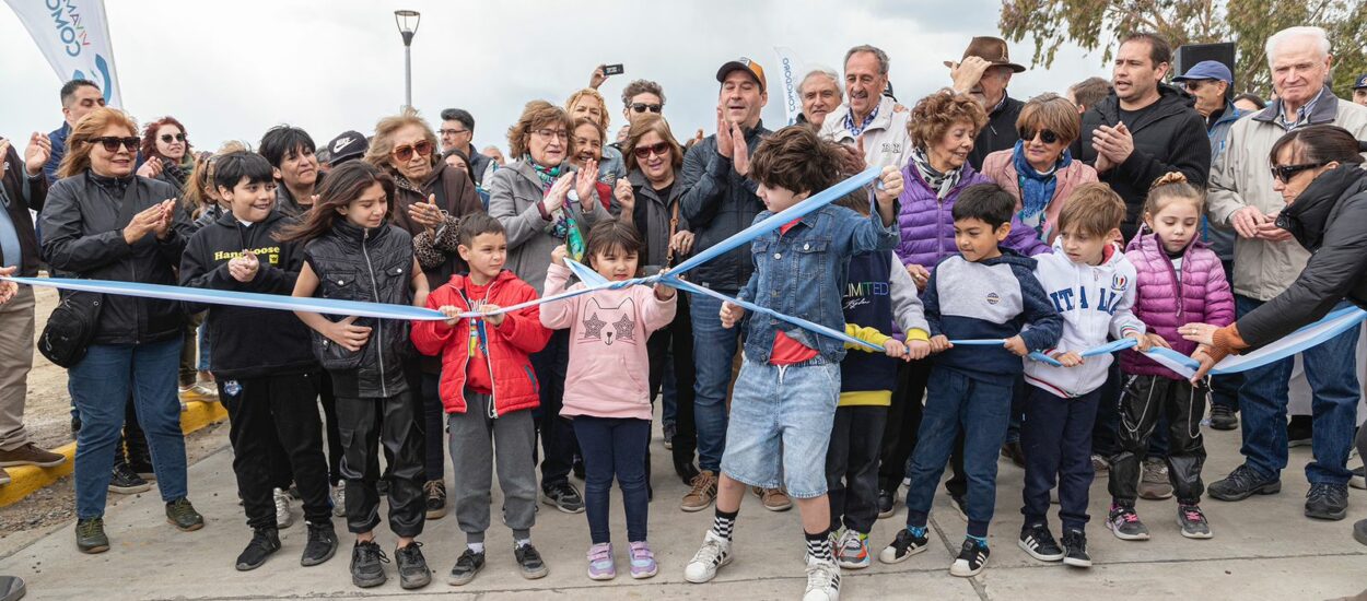
[[(641, 235), (630, 224), (600, 221), (589, 231), (584, 255), (608, 280), (636, 277)], [(551, 254), (545, 295), (566, 291), (570, 269), (563, 246)], [(570, 288), (582, 288), (577, 283)], [(675, 291), (630, 285), (600, 290), (541, 306), (541, 325), (570, 329), (570, 365), (565, 377), (565, 408), (574, 423), (584, 455), (584, 505), (589, 519), (589, 578), (617, 576), (607, 523), (608, 494), (617, 477), (626, 505), (626, 540), (632, 578), (656, 572), (655, 555), (645, 542), (648, 508), (647, 445), (651, 440), (651, 395), (645, 341), (674, 321)]]

